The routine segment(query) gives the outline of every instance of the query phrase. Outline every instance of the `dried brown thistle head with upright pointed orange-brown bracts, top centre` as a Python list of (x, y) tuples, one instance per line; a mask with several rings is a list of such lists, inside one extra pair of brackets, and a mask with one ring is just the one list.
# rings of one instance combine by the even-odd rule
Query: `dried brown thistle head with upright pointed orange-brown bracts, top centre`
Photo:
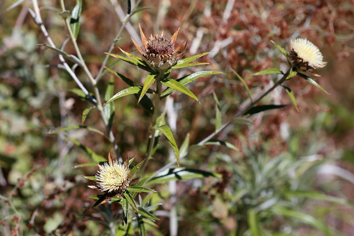
[(168, 38), (164, 34), (164, 31), (162, 31), (161, 35), (150, 35), (149, 40), (146, 39), (140, 24), (139, 29), (143, 48), (139, 47), (133, 39), (132, 41), (139, 53), (143, 56), (144, 61), (150, 67), (154, 69), (160, 68), (162, 70), (167, 70), (185, 54), (187, 43), (182, 43), (175, 47), (175, 41), (179, 28), (171, 38)]

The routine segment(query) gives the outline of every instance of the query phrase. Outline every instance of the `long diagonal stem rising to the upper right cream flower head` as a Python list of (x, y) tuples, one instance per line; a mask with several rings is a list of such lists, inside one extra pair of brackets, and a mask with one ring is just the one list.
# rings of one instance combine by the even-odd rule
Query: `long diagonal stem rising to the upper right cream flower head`
[[(290, 74), (290, 70), (291, 68), (289, 68), (289, 70), (286, 71), (286, 73), (283, 75), (283, 77), (281, 77), (280, 80), (276, 81), (275, 84), (273, 85), (273, 87), (269, 88), (269, 90), (267, 90), (266, 92), (264, 92), (260, 97), (258, 97), (254, 102), (250, 103), (245, 109), (239, 111), (238, 113), (236, 113), (233, 118), (226, 122), (225, 124), (223, 124), (219, 129), (217, 129), (216, 131), (214, 131), (212, 134), (210, 134), (208, 137), (206, 137), (205, 139), (201, 140), (198, 144), (196, 145), (203, 145), (204, 143), (208, 142), (211, 138), (213, 138), (214, 136), (216, 136), (219, 132), (221, 132), (224, 128), (226, 128), (228, 125), (230, 125), (230, 123), (237, 117), (240, 117), (242, 115), (245, 115), (247, 113), (247, 111), (249, 111), (251, 108), (253, 108), (262, 98), (264, 98), (265, 96), (267, 96), (268, 93), (272, 92), (276, 87), (278, 87), (279, 85), (281, 85), (287, 78), (287, 76)], [(188, 151), (183, 155), (180, 156), (179, 159), (181, 160), (183, 157), (185, 157), (188, 154)], [(165, 166), (161, 167), (160, 169), (158, 169), (157, 171), (155, 171), (154, 175), (152, 175), (152, 177), (154, 177), (155, 175), (161, 173), (162, 171), (164, 171), (165, 169), (172, 167), (175, 163), (177, 162), (176, 159), (171, 160), (170, 163), (166, 164)], [(151, 178), (152, 178), (151, 177)]]

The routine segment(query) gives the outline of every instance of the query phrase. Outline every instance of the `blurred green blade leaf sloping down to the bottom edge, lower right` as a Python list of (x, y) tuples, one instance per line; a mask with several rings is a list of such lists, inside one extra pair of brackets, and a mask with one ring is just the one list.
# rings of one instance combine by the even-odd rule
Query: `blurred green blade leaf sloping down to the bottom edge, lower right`
[(303, 212), (293, 211), (290, 209), (285, 209), (282, 207), (273, 207), (272, 209), (276, 214), (283, 215), (286, 217), (296, 218), (296, 219), (302, 221), (303, 223), (312, 225), (315, 228), (321, 230), (325, 235), (328, 235), (328, 236), (332, 235), (330, 230), (327, 228), (327, 226), (322, 224), (321, 221), (317, 220), (312, 215), (309, 215), (309, 214), (306, 214)]

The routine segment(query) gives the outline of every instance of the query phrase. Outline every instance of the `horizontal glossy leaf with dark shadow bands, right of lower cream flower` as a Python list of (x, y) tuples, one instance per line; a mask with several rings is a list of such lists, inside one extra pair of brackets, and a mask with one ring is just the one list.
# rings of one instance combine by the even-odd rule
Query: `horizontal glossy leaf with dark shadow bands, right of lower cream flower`
[(148, 184), (165, 184), (171, 180), (183, 180), (183, 179), (196, 179), (205, 177), (216, 177), (221, 178), (222, 175), (218, 173), (202, 171), (199, 169), (190, 168), (171, 168), (166, 169), (164, 172), (159, 173), (159, 175), (148, 181)]

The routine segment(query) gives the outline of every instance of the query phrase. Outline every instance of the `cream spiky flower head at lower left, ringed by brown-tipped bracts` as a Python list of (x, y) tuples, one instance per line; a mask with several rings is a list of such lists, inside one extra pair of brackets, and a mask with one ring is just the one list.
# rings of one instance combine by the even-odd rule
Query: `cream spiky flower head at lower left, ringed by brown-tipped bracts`
[(128, 167), (115, 160), (113, 163), (98, 165), (97, 186), (102, 192), (122, 191), (129, 186)]

